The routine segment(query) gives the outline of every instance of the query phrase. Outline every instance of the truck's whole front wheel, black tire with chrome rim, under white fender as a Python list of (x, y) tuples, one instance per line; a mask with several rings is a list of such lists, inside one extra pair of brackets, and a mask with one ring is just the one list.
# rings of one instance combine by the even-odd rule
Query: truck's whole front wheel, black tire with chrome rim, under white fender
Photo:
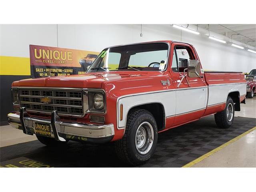
[(147, 110), (131, 110), (121, 140), (115, 142), (118, 157), (126, 164), (146, 163), (154, 154), (158, 130), (154, 116)]

